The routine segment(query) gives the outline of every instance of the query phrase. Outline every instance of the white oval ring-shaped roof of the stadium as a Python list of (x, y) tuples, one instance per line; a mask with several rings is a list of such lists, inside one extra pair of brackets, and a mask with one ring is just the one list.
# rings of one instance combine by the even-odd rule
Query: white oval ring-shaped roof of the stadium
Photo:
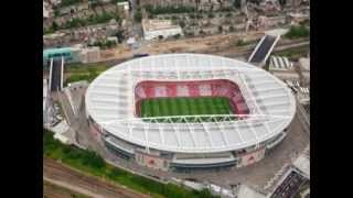
[[(227, 114), (222, 122), (157, 123), (135, 117), (137, 82), (201, 79), (235, 81), (250, 109), (248, 118), (227, 120)], [(101, 128), (130, 143), (211, 153), (245, 148), (276, 136), (291, 122), (296, 100), (286, 84), (248, 63), (213, 55), (165, 54), (128, 61), (103, 73), (87, 89), (86, 110)]]

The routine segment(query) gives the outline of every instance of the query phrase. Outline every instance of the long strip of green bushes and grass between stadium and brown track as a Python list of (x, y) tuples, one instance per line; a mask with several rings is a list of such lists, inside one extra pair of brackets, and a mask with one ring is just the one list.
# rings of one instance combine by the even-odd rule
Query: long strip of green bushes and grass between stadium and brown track
[(89, 175), (98, 176), (119, 185), (127, 186), (152, 197), (165, 198), (211, 198), (214, 197), (208, 190), (188, 190), (173, 184), (161, 184), (129, 172), (114, 167), (92, 151), (84, 151), (74, 146), (65, 145), (53, 139), (53, 133), (43, 131), (43, 156), (61, 161), (76, 169)]

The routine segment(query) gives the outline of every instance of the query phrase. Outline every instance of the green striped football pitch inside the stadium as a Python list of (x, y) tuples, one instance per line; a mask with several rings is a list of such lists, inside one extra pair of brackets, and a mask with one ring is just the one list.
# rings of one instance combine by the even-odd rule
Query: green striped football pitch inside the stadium
[[(142, 100), (141, 117), (170, 117), (170, 116), (202, 116), (202, 114), (234, 114), (229, 100), (225, 97), (197, 97), (197, 98), (153, 98)], [(194, 118), (188, 118), (195, 121)], [(200, 118), (212, 121), (210, 118)], [(216, 118), (218, 120), (221, 118)], [(159, 122), (165, 122), (159, 119)], [(183, 122), (173, 119), (174, 122)], [(200, 120), (199, 120), (200, 121)]]

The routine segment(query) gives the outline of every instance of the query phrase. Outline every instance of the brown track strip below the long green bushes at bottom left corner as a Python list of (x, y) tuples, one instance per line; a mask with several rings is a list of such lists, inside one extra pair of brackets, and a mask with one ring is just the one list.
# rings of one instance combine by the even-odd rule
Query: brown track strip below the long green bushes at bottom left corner
[(122, 186), (84, 175), (53, 160), (44, 158), (43, 179), (79, 194), (97, 198), (148, 198)]

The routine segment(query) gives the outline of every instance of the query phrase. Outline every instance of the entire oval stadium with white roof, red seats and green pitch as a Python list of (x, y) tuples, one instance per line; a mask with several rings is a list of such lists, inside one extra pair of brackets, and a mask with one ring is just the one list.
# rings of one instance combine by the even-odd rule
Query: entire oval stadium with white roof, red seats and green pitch
[(90, 133), (109, 151), (162, 170), (243, 167), (286, 136), (286, 84), (236, 59), (164, 54), (114, 66), (88, 87)]

